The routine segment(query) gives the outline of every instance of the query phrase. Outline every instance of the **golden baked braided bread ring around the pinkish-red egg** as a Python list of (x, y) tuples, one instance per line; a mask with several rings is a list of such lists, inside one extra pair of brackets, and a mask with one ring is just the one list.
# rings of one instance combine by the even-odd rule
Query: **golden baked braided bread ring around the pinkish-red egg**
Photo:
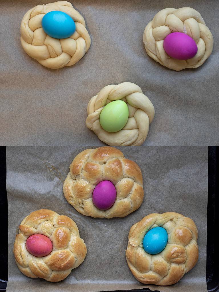
[[(25, 244), (32, 234), (49, 237), (53, 243), (52, 252), (41, 258), (30, 254)], [(21, 222), (13, 252), (19, 270), (27, 277), (58, 282), (81, 265), (87, 249), (84, 240), (80, 238), (76, 223), (71, 218), (41, 209), (30, 213)]]

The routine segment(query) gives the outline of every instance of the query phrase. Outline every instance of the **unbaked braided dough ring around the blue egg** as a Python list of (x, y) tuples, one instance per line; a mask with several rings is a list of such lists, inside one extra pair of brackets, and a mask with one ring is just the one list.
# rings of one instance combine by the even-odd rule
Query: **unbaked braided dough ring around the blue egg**
[[(50, 11), (62, 11), (71, 16), (76, 31), (66, 39), (54, 39), (42, 28), (42, 18)], [(37, 5), (27, 11), (20, 25), (20, 41), (25, 52), (41, 65), (59, 69), (77, 63), (88, 51), (91, 38), (85, 27), (84, 18), (67, 1)]]

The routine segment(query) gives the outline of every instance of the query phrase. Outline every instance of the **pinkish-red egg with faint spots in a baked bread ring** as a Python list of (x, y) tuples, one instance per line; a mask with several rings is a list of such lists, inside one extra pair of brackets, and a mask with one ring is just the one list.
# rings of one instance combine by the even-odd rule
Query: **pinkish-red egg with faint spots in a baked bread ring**
[(33, 256), (47, 256), (53, 249), (52, 241), (43, 234), (33, 234), (26, 240), (26, 248)]

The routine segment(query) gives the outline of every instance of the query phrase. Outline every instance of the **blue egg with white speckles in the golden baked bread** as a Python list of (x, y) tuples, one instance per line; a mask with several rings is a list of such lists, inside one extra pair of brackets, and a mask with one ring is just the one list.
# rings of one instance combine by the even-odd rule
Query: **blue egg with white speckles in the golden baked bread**
[(154, 227), (149, 230), (143, 239), (143, 248), (150, 255), (156, 255), (164, 250), (168, 234), (163, 227)]

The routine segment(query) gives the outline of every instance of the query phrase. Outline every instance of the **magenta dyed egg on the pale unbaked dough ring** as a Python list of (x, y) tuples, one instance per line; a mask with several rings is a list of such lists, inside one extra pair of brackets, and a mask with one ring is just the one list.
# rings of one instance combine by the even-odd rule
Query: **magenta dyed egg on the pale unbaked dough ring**
[(164, 39), (164, 51), (172, 58), (188, 60), (193, 58), (198, 51), (194, 39), (182, 32), (173, 32)]

